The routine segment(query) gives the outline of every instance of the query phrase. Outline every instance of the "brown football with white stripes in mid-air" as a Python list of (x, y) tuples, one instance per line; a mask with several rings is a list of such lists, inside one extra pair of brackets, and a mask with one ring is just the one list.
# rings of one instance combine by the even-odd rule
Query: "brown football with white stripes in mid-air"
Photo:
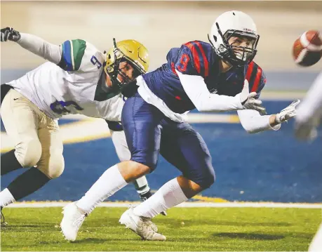
[(322, 35), (315, 30), (304, 32), (293, 44), (293, 58), (297, 65), (309, 67), (322, 57)]

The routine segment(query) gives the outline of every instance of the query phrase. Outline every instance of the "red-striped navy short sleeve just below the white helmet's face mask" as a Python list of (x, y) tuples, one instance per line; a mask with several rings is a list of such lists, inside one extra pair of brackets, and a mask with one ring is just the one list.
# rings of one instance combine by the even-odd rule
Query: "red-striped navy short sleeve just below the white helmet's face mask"
[(266, 75), (262, 68), (255, 62), (250, 62), (246, 69), (245, 79), (248, 80), (250, 92), (256, 92), (256, 98), (260, 98), (260, 93), (266, 84)]

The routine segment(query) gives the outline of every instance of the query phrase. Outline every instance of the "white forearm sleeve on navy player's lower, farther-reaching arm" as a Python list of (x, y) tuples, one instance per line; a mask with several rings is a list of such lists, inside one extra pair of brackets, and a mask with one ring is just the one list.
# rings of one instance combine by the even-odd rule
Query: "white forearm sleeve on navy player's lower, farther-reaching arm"
[(241, 126), (248, 133), (258, 133), (260, 131), (274, 130), (278, 131), (281, 128), (281, 124), (272, 127), (269, 124), (269, 117), (271, 115), (260, 115), (260, 112), (256, 110), (238, 110), (239, 121), (241, 121)]

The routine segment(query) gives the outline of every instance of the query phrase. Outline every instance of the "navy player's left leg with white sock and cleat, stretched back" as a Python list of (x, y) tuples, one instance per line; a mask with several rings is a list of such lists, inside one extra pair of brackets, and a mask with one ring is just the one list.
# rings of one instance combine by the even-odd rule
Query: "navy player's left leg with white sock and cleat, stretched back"
[[(138, 94), (126, 100), (122, 123), (131, 159), (108, 168), (79, 201), (65, 207), (60, 226), (66, 239), (76, 239), (85, 216), (100, 202), (133, 180), (154, 170), (159, 155), (159, 122), (162, 117), (163, 114), (156, 107), (149, 105)], [(147, 227), (149, 223), (145, 225)], [(152, 239), (158, 238), (159, 234), (154, 232)]]

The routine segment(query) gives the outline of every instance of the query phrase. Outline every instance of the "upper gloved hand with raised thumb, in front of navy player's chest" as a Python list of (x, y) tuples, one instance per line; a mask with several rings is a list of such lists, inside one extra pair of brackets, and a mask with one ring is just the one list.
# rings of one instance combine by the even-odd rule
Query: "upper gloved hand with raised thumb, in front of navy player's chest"
[(247, 79), (243, 83), (243, 90), (239, 94), (241, 105), (244, 110), (257, 110), (260, 114), (266, 114), (266, 109), (262, 106), (262, 101), (256, 99), (256, 92), (249, 93)]

